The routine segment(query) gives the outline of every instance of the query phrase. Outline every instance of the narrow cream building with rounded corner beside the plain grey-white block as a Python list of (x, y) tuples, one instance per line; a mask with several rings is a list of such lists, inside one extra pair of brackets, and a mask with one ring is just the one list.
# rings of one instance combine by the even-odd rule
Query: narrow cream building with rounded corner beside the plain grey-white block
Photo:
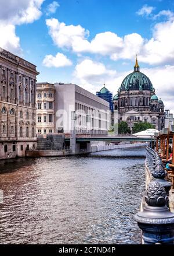
[(55, 134), (55, 85), (37, 83), (37, 134)]

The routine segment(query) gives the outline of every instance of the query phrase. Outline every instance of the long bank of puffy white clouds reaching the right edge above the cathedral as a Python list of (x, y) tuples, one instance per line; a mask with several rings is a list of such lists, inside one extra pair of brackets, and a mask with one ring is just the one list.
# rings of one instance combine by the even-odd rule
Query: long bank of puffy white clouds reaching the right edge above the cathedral
[(46, 24), (57, 47), (73, 50), (77, 54), (89, 52), (108, 55), (114, 61), (132, 60), (138, 54), (140, 61), (150, 65), (174, 64), (174, 20), (172, 18), (155, 24), (153, 36), (149, 40), (137, 33), (119, 37), (111, 31), (106, 31), (96, 34), (89, 41), (89, 31), (80, 25), (67, 26), (57, 19), (47, 19)]

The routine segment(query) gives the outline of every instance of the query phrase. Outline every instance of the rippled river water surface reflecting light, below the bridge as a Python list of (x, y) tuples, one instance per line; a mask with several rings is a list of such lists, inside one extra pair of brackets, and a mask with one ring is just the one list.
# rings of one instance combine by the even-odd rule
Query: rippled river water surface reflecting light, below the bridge
[(144, 149), (1, 161), (1, 244), (137, 244)]

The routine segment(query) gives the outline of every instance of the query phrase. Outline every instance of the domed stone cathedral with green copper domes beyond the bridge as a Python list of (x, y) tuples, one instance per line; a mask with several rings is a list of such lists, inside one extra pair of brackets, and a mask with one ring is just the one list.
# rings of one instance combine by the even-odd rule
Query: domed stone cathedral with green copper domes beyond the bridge
[(128, 122), (131, 129), (140, 121), (150, 122), (158, 130), (164, 127), (164, 103), (155, 95), (150, 79), (140, 72), (137, 59), (134, 71), (122, 81), (113, 102), (119, 121)]

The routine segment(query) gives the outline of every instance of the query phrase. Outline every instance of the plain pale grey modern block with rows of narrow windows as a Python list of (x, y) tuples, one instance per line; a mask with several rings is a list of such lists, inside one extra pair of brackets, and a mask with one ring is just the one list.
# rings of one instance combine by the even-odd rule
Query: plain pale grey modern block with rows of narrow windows
[(55, 131), (70, 133), (75, 118), (77, 134), (107, 133), (110, 110), (106, 100), (74, 84), (55, 83), (55, 89)]

